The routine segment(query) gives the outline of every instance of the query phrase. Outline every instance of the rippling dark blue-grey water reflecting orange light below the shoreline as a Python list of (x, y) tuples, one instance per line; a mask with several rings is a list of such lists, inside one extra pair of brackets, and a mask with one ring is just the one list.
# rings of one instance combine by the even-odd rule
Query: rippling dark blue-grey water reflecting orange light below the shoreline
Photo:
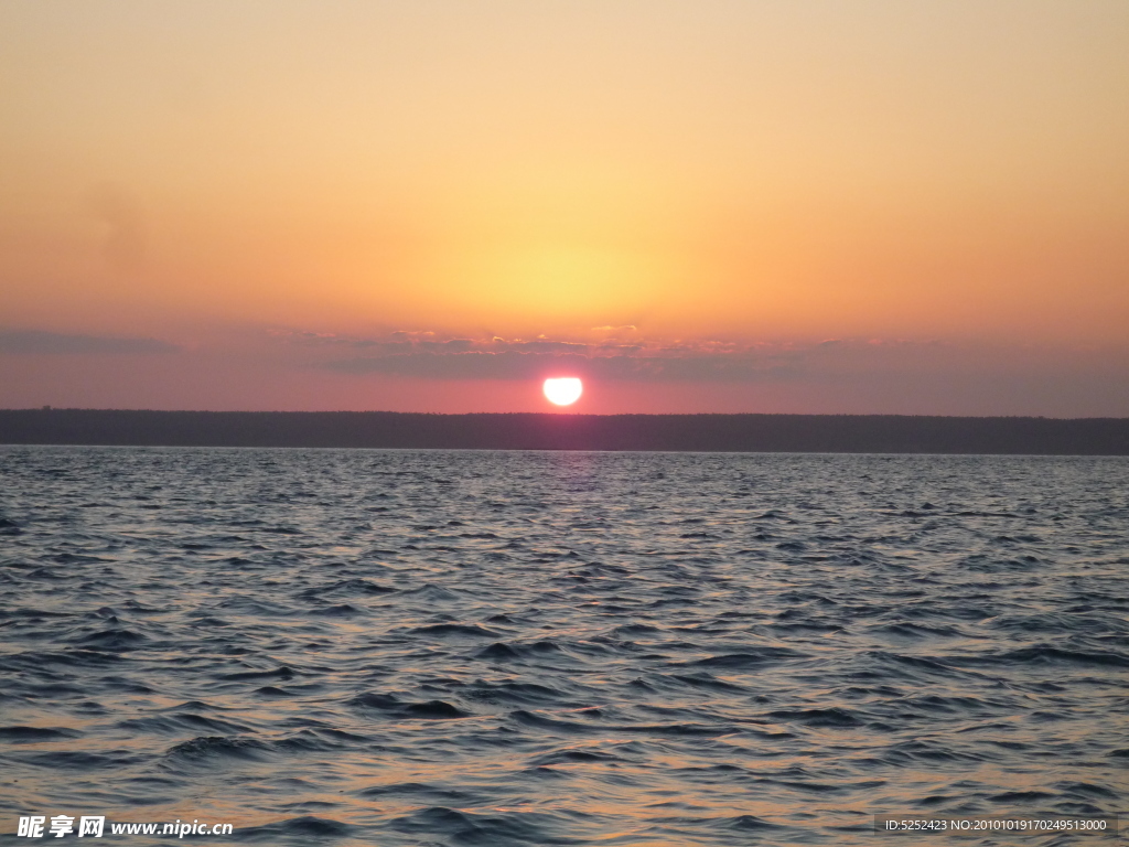
[(0, 588), (3, 841), (874, 845), (1129, 805), (1123, 459), (0, 447)]

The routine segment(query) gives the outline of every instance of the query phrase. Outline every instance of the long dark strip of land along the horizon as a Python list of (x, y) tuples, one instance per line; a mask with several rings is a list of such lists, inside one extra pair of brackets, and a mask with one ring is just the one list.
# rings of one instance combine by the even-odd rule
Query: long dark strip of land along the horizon
[(1129, 418), (0, 410), (0, 444), (1129, 455)]

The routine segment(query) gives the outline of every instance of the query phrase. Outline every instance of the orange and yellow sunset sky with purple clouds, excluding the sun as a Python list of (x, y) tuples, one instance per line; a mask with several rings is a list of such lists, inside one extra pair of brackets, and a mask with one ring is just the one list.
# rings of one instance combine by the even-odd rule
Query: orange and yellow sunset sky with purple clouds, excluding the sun
[(2, 0), (0, 408), (1129, 416), (1124, 0)]

